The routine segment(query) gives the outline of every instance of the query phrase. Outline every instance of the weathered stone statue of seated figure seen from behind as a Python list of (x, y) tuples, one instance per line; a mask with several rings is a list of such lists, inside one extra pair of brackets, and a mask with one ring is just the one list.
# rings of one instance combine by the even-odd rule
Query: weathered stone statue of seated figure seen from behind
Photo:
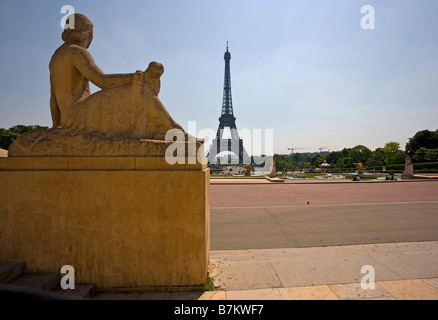
[[(93, 24), (74, 15), (75, 29), (64, 30), (49, 65), (53, 128), (23, 135), (9, 156), (163, 155), (166, 133), (184, 132), (158, 98), (163, 66), (151, 62), (145, 72), (105, 74), (87, 51)], [(102, 90), (91, 94), (90, 81)]]

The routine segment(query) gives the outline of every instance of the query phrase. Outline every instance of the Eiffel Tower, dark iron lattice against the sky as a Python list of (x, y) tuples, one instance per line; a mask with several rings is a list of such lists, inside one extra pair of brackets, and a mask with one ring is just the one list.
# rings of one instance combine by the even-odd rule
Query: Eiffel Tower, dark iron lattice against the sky
[[(219, 118), (219, 128), (217, 130), (216, 138), (213, 140), (210, 152), (208, 154), (208, 162), (213, 164), (216, 156), (223, 152), (232, 152), (239, 156), (239, 165), (243, 163), (249, 164), (251, 162), (248, 154), (243, 147), (243, 140), (240, 139), (236, 126), (236, 117), (234, 117), (233, 111), (233, 99), (231, 97), (231, 72), (230, 72), (230, 60), (231, 53), (225, 52), (225, 80), (224, 80), (224, 98), (222, 102), (222, 114)], [(230, 130), (230, 138), (224, 138), (225, 128)], [(220, 164), (220, 159), (218, 159)], [(231, 164), (231, 155), (228, 156), (228, 164)]]

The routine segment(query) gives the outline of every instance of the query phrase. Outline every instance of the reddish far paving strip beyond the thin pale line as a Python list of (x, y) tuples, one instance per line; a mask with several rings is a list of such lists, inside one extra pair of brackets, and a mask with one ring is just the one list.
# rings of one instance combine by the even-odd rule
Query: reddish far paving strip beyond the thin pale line
[(438, 180), (321, 181), (211, 180), (211, 207), (278, 207), (438, 201)]

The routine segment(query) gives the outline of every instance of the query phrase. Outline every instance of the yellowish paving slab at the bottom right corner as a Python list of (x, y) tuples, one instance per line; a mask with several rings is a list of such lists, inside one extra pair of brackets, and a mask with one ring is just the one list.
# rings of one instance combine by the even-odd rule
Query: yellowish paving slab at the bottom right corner
[(423, 280), (379, 281), (397, 300), (438, 300), (438, 289)]

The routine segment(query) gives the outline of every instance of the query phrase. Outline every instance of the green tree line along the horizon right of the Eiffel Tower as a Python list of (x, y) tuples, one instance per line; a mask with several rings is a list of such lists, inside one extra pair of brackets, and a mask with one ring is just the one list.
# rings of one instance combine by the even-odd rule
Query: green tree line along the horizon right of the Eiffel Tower
[(315, 169), (324, 162), (331, 165), (335, 171), (355, 169), (355, 163), (362, 163), (368, 170), (380, 170), (382, 167), (391, 166), (401, 168), (405, 164), (406, 155), (411, 157), (414, 164), (438, 162), (438, 129), (417, 132), (409, 139), (405, 150), (401, 150), (400, 143), (391, 141), (374, 151), (364, 145), (357, 145), (330, 153), (276, 154), (274, 159), (278, 170)]

